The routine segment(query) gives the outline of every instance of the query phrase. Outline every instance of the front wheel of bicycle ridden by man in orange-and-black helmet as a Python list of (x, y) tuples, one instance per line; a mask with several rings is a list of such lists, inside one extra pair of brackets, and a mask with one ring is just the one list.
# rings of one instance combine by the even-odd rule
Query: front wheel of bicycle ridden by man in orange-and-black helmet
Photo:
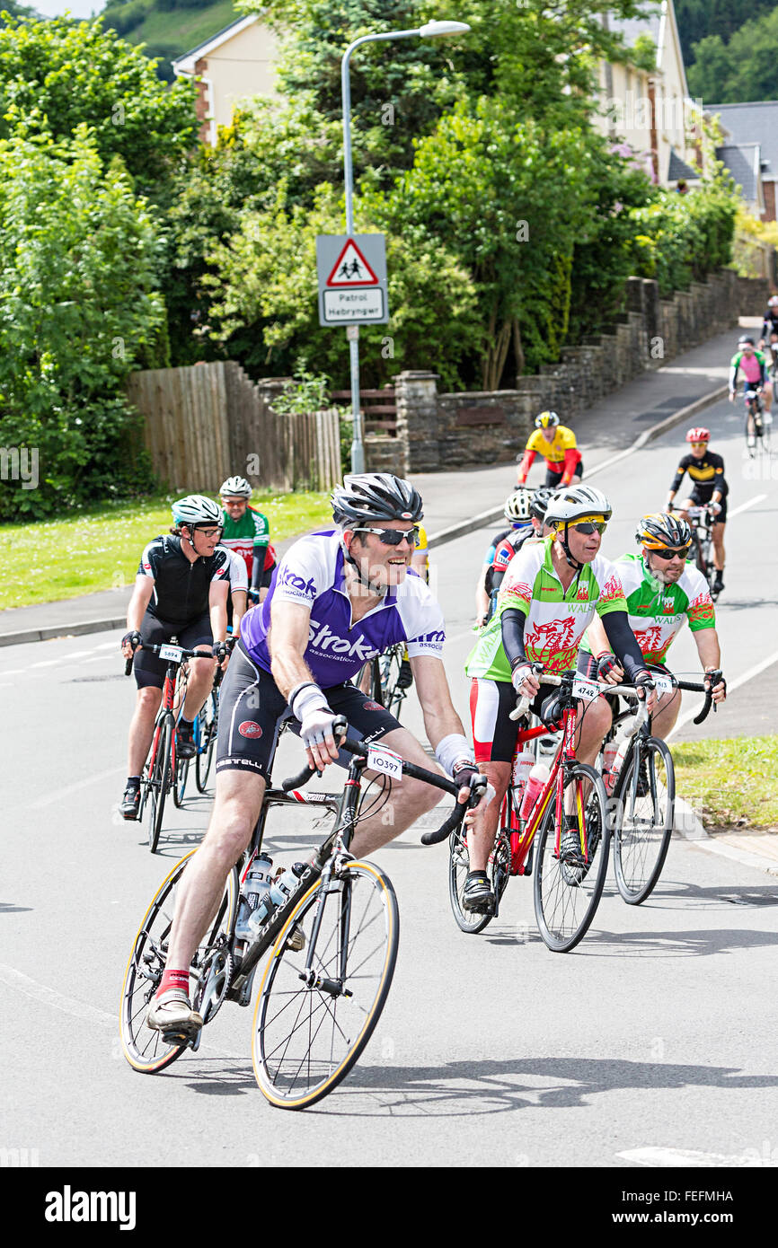
[(673, 831), (676, 773), (664, 741), (636, 741), (616, 797), (616, 884), (627, 905), (639, 906), (662, 874)]

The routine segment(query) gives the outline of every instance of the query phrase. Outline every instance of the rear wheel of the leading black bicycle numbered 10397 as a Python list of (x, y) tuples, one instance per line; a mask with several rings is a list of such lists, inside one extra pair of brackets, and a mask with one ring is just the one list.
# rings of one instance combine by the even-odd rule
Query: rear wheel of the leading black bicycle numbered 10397
[[(175, 1062), (187, 1047), (186, 1045), (166, 1045), (159, 1031), (151, 1031), (146, 1027), (145, 1020), (149, 1003), (156, 992), (165, 966), (164, 945), (170, 934), (170, 924), (175, 911), (175, 890), (192, 854), (196, 854), (196, 850), (190, 850), (180, 862), (176, 862), (151, 899), (135, 936), (121, 985), (121, 1047), (130, 1066), (141, 1075), (157, 1075)], [(235, 927), (239, 892), (239, 875), (236, 867), (232, 867), (219, 910), (192, 957), (190, 981), (194, 980), (195, 983), (190, 983), (190, 997), (199, 977), (199, 966), (216, 945), (220, 935)], [(160, 931), (155, 932), (157, 921)], [(150, 961), (146, 961), (147, 957)]]

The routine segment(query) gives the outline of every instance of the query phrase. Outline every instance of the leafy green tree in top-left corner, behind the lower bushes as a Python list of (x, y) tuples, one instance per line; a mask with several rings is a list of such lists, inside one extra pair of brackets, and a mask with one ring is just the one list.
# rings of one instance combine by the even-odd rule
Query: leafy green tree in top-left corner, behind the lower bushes
[(100, 156), (121, 156), (139, 191), (164, 201), (197, 136), (195, 87), (161, 82), (139, 47), (101, 21), (24, 22), (0, 30), (0, 139), (20, 124), (55, 140), (82, 122)]

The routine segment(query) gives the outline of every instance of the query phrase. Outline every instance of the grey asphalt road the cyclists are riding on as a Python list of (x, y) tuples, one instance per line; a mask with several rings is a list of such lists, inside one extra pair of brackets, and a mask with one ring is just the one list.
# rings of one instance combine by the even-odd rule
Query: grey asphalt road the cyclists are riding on
[[(717, 718), (737, 724), (749, 713), (749, 673), (777, 656), (778, 492), (741, 458), (739, 409), (722, 404), (706, 423), (737, 513), (719, 609), (734, 691)], [(682, 447), (674, 431), (592, 478), (617, 517), (603, 553), (632, 549), (634, 519), (662, 505)], [(435, 553), (463, 715), (486, 537)], [(40, 1166), (778, 1162), (776, 881), (682, 840), (646, 905), (624, 906), (609, 879), (592, 931), (561, 956), (537, 936), (524, 880), (511, 881), (485, 934), (460, 934), (445, 846), (422, 849), (406, 832), (376, 855), (401, 911), (392, 992), (341, 1090), (302, 1114), (271, 1108), (251, 1070), (251, 1012), (235, 1006), (197, 1055), (156, 1078), (131, 1071), (117, 1036), (130, 945), (162, 876), (200, 840), (209, 801), (170, 806), (157, 856), (116, 816), (134, 701), (117, 641), (100, 634), (0, 653), (0, 1053), (12, 1072), (4, 1148), (35, 1151)], [(673, 659), (676, 670), (698, 670), (688, 635)], [(407, 723), (421, 731), (415, 699)], [(297, 743), (281, 749), (277, 776), (300, 763)], [(295, 820), (276, 822), (272, 836), (287, 861), (317, 834)]]

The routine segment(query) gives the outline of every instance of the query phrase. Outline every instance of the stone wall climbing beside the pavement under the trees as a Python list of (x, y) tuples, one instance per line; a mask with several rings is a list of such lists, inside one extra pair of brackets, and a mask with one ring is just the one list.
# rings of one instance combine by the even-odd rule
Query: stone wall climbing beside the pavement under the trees
[(647, 368), (724, 333), (738, 316), (763, 312), (768, 296), (767, 280), (733, 270), (692, 282), (669, 300), (659, 298), (657, 282), (631, 277), (627, 311), (607, 333), (564, 347), (558, 363), (519, 377), (516, 389), (438, 394), (435, 372), (402, 372), (395, 378), (397, 437), (367, 436), (367, 468), (410, 475), (508, 463), (543, 408), (574, 427), (581, 412)]

